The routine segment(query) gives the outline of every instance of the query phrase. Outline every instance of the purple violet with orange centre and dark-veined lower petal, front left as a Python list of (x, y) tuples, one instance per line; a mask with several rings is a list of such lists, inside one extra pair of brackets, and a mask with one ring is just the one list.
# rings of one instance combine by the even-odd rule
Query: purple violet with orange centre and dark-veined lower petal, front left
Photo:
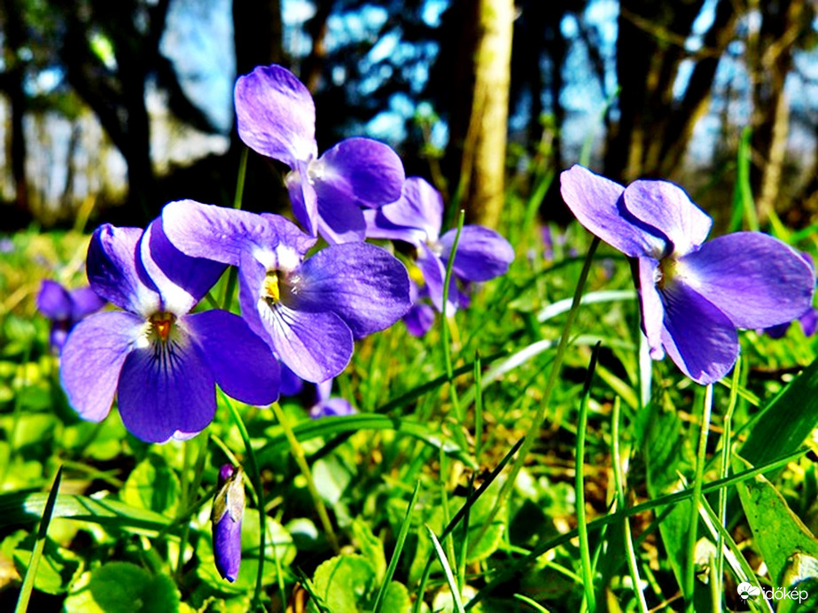
[(101, 226), (87, 268), (91, 288), (124, 310), (85, 318), (63, 347), (60, 377), (83, 419), (104, 419), (116, 394), (131, 433), (165, 442), (213, 420), (215, 384), (249, 404), (277, 399), (278, 363), (241, 317), (190, 314), (224, 267), (177, 251), (160, 221)]

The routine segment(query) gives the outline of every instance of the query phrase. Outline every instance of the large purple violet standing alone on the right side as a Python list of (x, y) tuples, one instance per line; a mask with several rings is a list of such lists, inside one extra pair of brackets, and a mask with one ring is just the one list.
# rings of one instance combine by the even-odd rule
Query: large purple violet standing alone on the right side
[(788, 322), (812, 305), (814, 271), (798, 252), (760, 232), (705, 243), (713, 220), (674, 183), (624, 188), (580, 166), (560, 181), (580, 223), (636, 259), (651, 357), (661, 360), (666, 352), (699, 384), (733, 367), (736, 329)]

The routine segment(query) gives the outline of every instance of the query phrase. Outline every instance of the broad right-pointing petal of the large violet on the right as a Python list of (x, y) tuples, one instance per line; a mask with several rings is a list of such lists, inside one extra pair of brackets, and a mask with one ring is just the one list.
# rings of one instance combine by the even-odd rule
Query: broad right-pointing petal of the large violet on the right
[(706, 242), (678, 261), (676, 275), (737, 328), (768, 328), (812, 307), (812, 268), (790, 246), (760, 232)]

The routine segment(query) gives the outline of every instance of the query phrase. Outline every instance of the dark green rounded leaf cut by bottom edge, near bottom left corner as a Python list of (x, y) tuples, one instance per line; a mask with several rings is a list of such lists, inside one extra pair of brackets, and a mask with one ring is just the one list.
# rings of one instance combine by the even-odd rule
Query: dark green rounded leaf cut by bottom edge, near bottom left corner
[(112, 562), (86, 574), (66, 598), (67, 613), (126, 613), (179, 610), (179, 594), (165, 575), (129, 562)]

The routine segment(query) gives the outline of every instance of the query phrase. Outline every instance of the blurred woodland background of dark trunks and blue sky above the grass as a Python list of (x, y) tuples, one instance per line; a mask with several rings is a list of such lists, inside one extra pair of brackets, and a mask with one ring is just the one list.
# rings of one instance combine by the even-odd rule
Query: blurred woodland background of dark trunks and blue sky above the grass
[[(681, 182), (718, 219), (749, 127), (760, 220), (806, 227), (816, 24), (811, 0), (0, 0), (0, 230), (230, 203), (243, 147), (232, 84), (272, 62), (314, 93), (320, 151), (384, 140), (408, 175), (490, 225), (502, 189), (482, 182), (498, 164), (501, 187), (527, 196), (585, 147), (605, 175)], [(480, 63), (502, 56), (480, 51), (492, 33), (510, 61), (486, 85)], [(492, 130), (502, 142), (487, 137), (481, 166)], [(251, 156), (246, 208), (283, 209), (278, 170)], [(541, 215), (567, 219), (557, 182)]]

